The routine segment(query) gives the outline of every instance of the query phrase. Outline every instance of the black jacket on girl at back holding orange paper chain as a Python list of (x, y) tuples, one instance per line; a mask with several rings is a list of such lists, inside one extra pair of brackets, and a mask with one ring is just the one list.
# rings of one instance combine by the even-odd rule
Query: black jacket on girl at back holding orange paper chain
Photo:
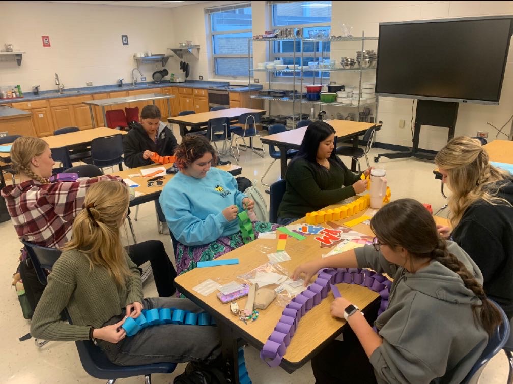
[(172, 156), (178, 144), (171, 130), (166, 126), (157, 142), (150, 139), (141, 124), (136, 124), (123, 137), (125, 164), (129, 168), (153, 164), (151, 159), (143, 159), (144, 151), (156, 152), (160, 156)]

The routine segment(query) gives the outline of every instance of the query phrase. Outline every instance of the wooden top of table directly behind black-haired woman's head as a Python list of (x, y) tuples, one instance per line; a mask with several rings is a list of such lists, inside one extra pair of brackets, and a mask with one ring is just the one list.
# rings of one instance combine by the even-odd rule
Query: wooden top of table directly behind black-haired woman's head
[[(338, 139), (354, 136), (358, 133), (363, 135), (365, 131), (375, 125), (374, 123), (347, 120), (326, 120), (326, 122), (334, 128), (335, 135)], [(292, 148), (299, 148), (305, 136), (306, 129), (307, 127), (305, 126), (295, 130), (263, 136), (260, 141), (265, 144), (287, 144)]]

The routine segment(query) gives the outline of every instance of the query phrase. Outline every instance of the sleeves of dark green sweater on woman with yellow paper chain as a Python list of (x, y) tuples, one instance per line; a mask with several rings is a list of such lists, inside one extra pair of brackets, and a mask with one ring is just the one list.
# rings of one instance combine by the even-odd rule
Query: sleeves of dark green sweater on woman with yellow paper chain
[[(331, 164), (330, 173), (339, 171), (340, 168), (336, 170), (334, 169), (335, 167), (336, 165)], [(312, 165), (309, 165), (306, 161), (300, 160), (295, 162), (290, 169), (287, 169), (286, 179), (294, 191), (304, 200), (315, 202), (317, 206), (326, 206), (356, 195), (352, 184), (358, 180), (358, 176), (353, 175), (345, 166), (343, 173), (343, 184), (345, 187), (334, 186), (336, 187), (335, 189), (322, 190), (317, 181), (317, 179), (322, 176), (315, 174)], [(327, 174), (325, 177), (330, 177), (330, 175)], [(356, 180), (352, 181), (354, 178), (356, 178)]]

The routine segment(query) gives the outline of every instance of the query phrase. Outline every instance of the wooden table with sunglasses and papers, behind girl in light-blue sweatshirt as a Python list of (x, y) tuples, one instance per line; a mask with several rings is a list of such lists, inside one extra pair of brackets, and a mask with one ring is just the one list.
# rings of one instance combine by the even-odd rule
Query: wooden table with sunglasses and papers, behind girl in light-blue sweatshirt
[[(123, 179), (130, 179), (133, 182), (139, 184), (138, 187), (134, 188), (136, 196), (133, 200), (130, 200), (129, 206), (147, 203), (148, 201), (153, 201), (153, 200), (159, 198), (159, 196), (162, 192), (162, 189), (164, 189), (167, 182), (173, 178), (174, 174), (166, 174), (164, 176), (164, 180), (163, 180), (164, 183), (162, 185), (156, 185), (156, 183), (155, 183), (151, 187), (149, 187), (147, 185), (147, 181), (148, 181), (148, 179), (151, 179), (151, 177), (144, 177), (141, 174), (141, 169), (154, 168), (154, 167), (158, 167), (158, 166), (163, 166), (167, 169), (167, 168), (171, 167), (172, 164), (169, 163), (169, 164), (164, 164), (164, 165), (163, 164), (144, 165), (144, 166), (136, 167), (136, 168), (123, 169), (121, 171), (113, 172), (110, 174), (110, 175), (114, 175), (114, 176), (119, 176)], [(226, 170), (226, 172), (229, 172), (233, 176), (240, 175), (242, 172), (242, 167), (240, 165), (233, 165), (233, 164), (218, 165), (217, 168)], [(137, 174), (137, 176), (133, 176), (133, 177), (129, 176), (129, 175), (136, 175), (136, 174)]]

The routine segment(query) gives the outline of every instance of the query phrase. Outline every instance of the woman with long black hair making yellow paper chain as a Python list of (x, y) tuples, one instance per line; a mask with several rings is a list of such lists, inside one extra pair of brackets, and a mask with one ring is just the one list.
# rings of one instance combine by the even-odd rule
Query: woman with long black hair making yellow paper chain
[[(308, 125), (299, 152), (285, 172), (278, 223), (287, 225), (327, 205), (362, 193), (367, 180), (349, 170), (335, 153), (335, 130), (324, 121)], [(370, 168), (364, 172), (370, 174)]]

